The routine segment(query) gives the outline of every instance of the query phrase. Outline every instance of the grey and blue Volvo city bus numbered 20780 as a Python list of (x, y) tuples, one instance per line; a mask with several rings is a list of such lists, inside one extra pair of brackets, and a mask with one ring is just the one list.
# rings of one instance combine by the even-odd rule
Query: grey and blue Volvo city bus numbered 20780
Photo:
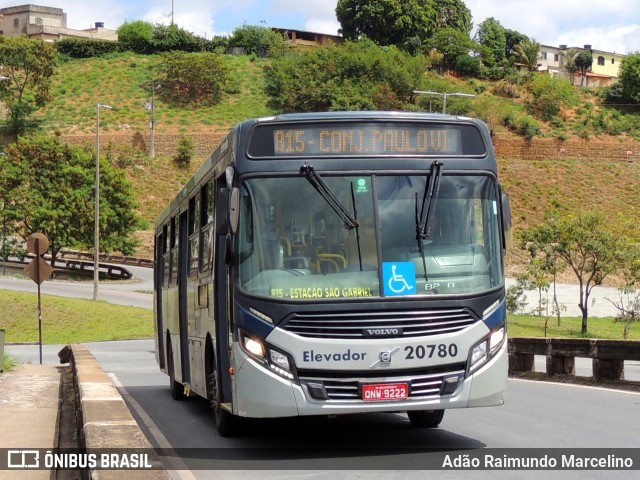
[(478, 119), (282, 114), (231, 129), (155, 223), (173, 398), (245, 418), (501, 405), (508, 196)]

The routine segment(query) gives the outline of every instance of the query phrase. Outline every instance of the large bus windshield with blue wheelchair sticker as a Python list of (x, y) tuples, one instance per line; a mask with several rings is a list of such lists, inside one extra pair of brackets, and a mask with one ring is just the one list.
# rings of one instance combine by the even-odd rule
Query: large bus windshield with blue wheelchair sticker
[(426, 232), (429, 175), (322, 180), (353, 224), (303, 176), (243, 182), (235, 258), (245, 292), (314, 301), (468, 295), (502, 285), (492, 176), (443, 174)]

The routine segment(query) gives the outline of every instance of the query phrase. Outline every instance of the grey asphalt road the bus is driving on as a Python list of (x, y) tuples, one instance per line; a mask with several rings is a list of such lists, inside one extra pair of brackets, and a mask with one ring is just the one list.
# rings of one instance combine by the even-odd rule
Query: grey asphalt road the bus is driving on
[[(174, 479), (351, 478), (424, 479), (631, 479), (637, 471), (451, 471), (425, 472), (430, 455), (495, 455), (517, 452), (640, 453), (640, 395), (615, 390), (510, 380), (502, 407), (447, 411), (441, 426), (416, 429), (404, 414), (294, 418), (252, 422), (239, 437), (217, 435), (206, 401), (171, 399), (168, 377), (158, 371), (152, 340), (86, 344), (113, 375), (152, 444), (179, 449)], [(45, 363), (57, 362), (59, 346), (45, 347)], [(23, 360), (37, 346), (9, 346)], [(186, 449), (186, 450), (184, 450)], [(493, 450), (497, 449), (497, 450)], [(544, 449), (544, 450), (537, 450)], [(578, 450), (576, 450), (578, 449)], [(542, 452), (542, 453), (541, 453)], [(208, 458), (206, 463), (198, 459)], [(212, 464), (211, 458), (215, 458)], [(202, 460), (204, 461), (204, 460)], [(195, 462), (195, 463), (194, 463)], [(189, 467), (202, 466), (207, 470)], [(638, 459), (640, 465), (640, 458)], [(222, 469), (222, 471), (221, 471)], [(260, 470), (255, 472), (255, 470)]]

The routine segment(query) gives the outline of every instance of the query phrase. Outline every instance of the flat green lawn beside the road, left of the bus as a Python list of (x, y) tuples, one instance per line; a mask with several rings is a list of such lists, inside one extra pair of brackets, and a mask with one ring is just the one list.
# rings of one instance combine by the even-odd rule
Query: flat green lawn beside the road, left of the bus
[[(0, 329), (6, 343), (38, 342), (36, 294), (0, 290)], [(47, 345), (153, 337), (149, 309), (103, 301), (42, 296), (42, 343)]]

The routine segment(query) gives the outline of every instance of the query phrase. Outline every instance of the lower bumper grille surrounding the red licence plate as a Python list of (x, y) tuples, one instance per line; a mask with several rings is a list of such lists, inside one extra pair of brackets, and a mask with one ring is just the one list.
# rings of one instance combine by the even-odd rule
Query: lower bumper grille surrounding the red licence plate
[(367, 383), (408, 383), (409, 399), (418, 398), (438, 398), (445, 378), (458, 377), (462, 379), (465, 373), (465, 365), (449, 365), (446, 371), (440, 369), (420, 370), (412, 373), (404, 373), (401, 376), (380, 377), (380, 372), (375, 372), (377, 376), (371, 376), (369, 372), (359, 376), (355, 372), (298, 372), (300, 383), (322, 385), (330, 401), (361, 401), (362, 394), (360, 388)]

